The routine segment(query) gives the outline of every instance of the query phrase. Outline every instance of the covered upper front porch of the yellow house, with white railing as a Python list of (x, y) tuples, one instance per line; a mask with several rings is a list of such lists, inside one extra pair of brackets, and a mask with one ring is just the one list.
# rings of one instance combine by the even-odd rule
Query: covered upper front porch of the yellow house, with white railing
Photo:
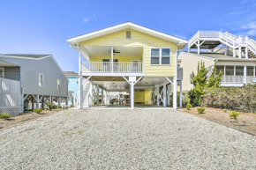
[(83, 76), (143, 76), (142, 47), (80, 46)]

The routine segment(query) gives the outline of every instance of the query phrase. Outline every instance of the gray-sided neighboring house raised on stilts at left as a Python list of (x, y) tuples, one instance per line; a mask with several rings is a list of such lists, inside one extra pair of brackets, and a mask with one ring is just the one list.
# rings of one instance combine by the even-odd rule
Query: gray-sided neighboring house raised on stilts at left
[[(44, 108), (49, 101), (55, 104), (67, 102), (68, 79), (52, 55), (0, 55), (0, 78), (2, 86), (4, 81), (9, 81), (9, 90), (12, 89), (11, 81), (19, 82), (21, 96), (20, 102), (17, 102), (19, 104), (16, 105), (20, 105), (20, 113), (24, 113), (24, 109), (29, 106), (32, 110), (34, 107)], [(9, 99), (10, 95), (6, 92), (6, 101), (2, 106), (0, 102), (0, 107), (8, 107), (10, 100), (13, 101), (15, 98)]]

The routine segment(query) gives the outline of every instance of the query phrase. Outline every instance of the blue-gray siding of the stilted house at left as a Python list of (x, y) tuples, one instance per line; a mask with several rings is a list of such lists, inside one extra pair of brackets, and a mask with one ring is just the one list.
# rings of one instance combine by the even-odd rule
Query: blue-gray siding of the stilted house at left
[[(67, 97), (68, 80), (51, 55), (41, 59), (0, 55), (0, 60), (20, 66), (21, 88), (26, 88), (26, 94)], [(44, 75), (44, 87), (39, 86), (39, 73)], [(57, 90), (57, 79), (61, 90)]]

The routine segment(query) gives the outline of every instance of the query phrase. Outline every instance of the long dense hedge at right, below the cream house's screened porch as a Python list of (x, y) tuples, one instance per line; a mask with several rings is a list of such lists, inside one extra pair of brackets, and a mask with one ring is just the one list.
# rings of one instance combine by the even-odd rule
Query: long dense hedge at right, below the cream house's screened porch
[(219, 87), (205, 90), (201, 105), (240, 112), (256, 112), (256, 86)]

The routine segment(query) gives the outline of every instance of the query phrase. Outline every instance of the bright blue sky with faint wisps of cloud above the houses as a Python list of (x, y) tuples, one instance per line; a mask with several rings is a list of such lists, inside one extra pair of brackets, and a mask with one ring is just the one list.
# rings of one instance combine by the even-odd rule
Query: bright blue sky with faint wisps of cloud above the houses
[(132, 21), (189, 39), (198, 30), (256, 39), (256, 0), (1, 0), (0, 53), (52, 54), (63, 70), (78, 70), (66, 39)]

